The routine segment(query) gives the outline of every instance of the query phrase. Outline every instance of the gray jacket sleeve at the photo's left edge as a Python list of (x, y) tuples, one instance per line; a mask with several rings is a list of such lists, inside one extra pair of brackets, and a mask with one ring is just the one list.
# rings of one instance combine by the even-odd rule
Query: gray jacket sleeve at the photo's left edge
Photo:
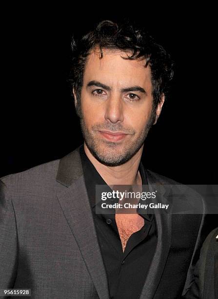
[(18, 236), (12, 200), (0, 180), (0, 288), (13, 288), (17, 274)]

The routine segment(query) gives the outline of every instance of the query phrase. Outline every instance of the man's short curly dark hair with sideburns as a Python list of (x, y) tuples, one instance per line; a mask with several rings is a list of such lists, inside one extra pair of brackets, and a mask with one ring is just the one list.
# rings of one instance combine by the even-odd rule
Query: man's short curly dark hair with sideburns
[(73, 38), (71, 45), (73, 60), (69, 81), (79, 101), (86, 58), (97, 47), (100, 49), (100, 58), (103, 57), (102, 49), (118, 49), (128, 54), (128, 57), (122, 57), (123, 59), (145, 59), (145, 67), (149, 65), (151, 68), (154, 109), (162, 94), (166, 96), (169, 91), (169, 84), (173, 78), (173, 61), (170, 55), (147, 32), (135, 28), (128, 21), (120, 24), (108, 20), (101, 21), (78, 43)]

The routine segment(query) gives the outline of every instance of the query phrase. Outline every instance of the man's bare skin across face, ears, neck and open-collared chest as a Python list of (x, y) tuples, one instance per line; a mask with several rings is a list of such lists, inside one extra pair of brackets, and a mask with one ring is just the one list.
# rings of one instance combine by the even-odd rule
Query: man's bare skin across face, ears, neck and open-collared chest
[[(123, 59), (126, 55), (103, 49), (99, 59), (99, 50), (93, 51), (85, 65), (80, 102), (74, 91), (86, 155), (108, 185), (141, 185), (138, 168), (144, 140), (164, 102), (163, 95), (153, 111), (150, 67), (144, 67), (145, 60)], [(126, 90), (130, 87), (134, 88)], [(125, 135), (120, 140), (106, 138), (105, 130)], [(116, 222), (124, 251), (144, 220), (139, 214), (116, 214)]]

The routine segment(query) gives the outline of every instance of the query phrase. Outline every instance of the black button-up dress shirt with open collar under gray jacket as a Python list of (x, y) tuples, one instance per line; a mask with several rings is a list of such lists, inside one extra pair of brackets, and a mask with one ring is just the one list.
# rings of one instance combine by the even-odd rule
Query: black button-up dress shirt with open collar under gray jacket
[[(99, 247), (108, 278), (110, 298), (137, 299), (140, 297), (157, 245), (155, 215), (138, 212), (144, 218), (144, 226), (129, 237), (123, 252), (115, 212), (96, 214), (96, 185), (106, 185), (106, 183), (86, 156), (83, 146), (80, 147), (80, 157)], [(139, 172), (142, 185), (147, 185), (146, 174), (141, 162)], [(93, 253), (93, 258), (95, 258), (95, 253)]]

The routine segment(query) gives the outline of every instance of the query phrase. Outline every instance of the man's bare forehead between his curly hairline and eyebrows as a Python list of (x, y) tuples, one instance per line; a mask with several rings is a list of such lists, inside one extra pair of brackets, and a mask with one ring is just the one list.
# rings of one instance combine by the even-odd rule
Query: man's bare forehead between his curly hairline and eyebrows
[(120, 50), (102, 49), (102, 52), (101, 59), (99, 49), (93, 50), (87, 57), (83, 84), (96, 80), (111, 86), (140, 85), (147, 89), (151, 87), (151, 71), (149, 66), (144, 66), (145, 59), (123, 59), (122, 57), (128, 56)]

